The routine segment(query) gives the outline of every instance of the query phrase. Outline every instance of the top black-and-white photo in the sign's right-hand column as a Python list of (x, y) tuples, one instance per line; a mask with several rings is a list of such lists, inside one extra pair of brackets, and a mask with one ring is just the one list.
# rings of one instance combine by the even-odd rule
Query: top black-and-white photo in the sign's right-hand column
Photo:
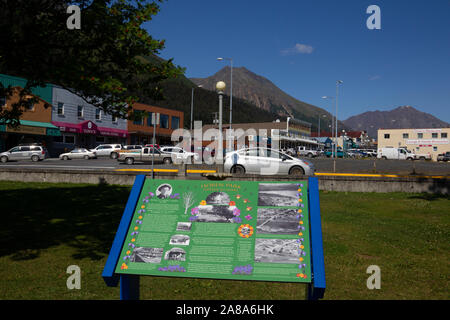
[(298, 203), (298, 187), (293, 183), (260, 183), (258, 206), (288, 207)]

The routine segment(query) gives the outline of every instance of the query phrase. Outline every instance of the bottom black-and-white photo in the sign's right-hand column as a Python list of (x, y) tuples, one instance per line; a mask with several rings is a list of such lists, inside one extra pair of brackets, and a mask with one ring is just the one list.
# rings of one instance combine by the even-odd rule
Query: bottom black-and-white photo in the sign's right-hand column
[(300, 254), (296, 240), (256, 239), (255, 262), (298, 263)]

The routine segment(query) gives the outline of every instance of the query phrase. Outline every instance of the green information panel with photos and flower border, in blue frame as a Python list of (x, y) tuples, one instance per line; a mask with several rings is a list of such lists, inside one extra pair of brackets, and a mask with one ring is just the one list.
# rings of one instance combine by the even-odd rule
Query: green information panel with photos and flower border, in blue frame
[(307, 188), (146, 178), (114, 272), (310, 283)]

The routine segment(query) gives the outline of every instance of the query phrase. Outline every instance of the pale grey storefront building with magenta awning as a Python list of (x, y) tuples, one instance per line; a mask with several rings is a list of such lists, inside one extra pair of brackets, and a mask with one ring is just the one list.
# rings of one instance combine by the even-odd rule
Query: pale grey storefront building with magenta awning
[(53, 141), (57, 153), (104, 143), (126, 144), (127, 120), (114, 118), (61, 87), (53, 87), (52, 124), (61, 131)]

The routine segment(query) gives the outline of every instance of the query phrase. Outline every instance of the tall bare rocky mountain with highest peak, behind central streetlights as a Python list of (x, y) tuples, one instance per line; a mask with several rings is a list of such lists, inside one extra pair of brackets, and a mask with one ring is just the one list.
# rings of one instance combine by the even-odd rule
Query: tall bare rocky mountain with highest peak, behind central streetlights
[[(225, 81), (227, 83), (225, 93), (229, 95), (230, 76), (231, 68), (226, 66), (208, 78), (191, 78), (190, 80), (208, 90), (215, 90), (215, 84), (218, 81)], [(321, 118), (321, 128), (328, 128), (331, 124), (331, 114), (326, 110), (291, 97), (270, 80), (245, 67), (233, 68), (233, 109), (235, 97), (244, 99), (261, 110), (310, 122), (312, 130), (317, 130), (318, 118), (323, 114), (327, 117)]]

